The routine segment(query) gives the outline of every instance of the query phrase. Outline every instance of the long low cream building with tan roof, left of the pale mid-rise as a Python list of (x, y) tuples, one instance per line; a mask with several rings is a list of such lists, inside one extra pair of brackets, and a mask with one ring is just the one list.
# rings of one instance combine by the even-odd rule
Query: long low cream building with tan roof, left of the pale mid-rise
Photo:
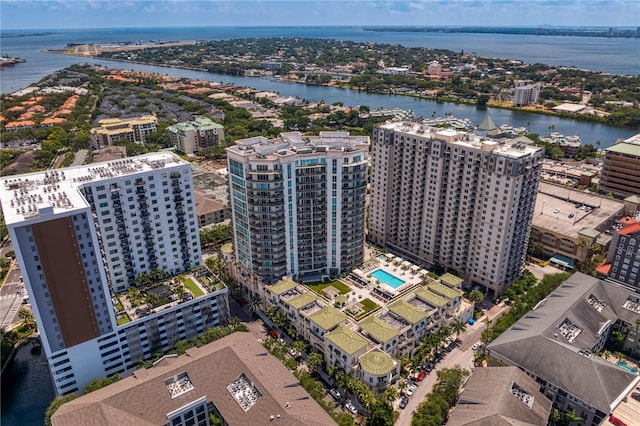
[(105, 118), (99, 126), (91, 129), (91, 147), (111, 146), (117, 140), (145, 143), (147, 136), (157, 131), (158, 119), (155, 115), (135, 118)]

